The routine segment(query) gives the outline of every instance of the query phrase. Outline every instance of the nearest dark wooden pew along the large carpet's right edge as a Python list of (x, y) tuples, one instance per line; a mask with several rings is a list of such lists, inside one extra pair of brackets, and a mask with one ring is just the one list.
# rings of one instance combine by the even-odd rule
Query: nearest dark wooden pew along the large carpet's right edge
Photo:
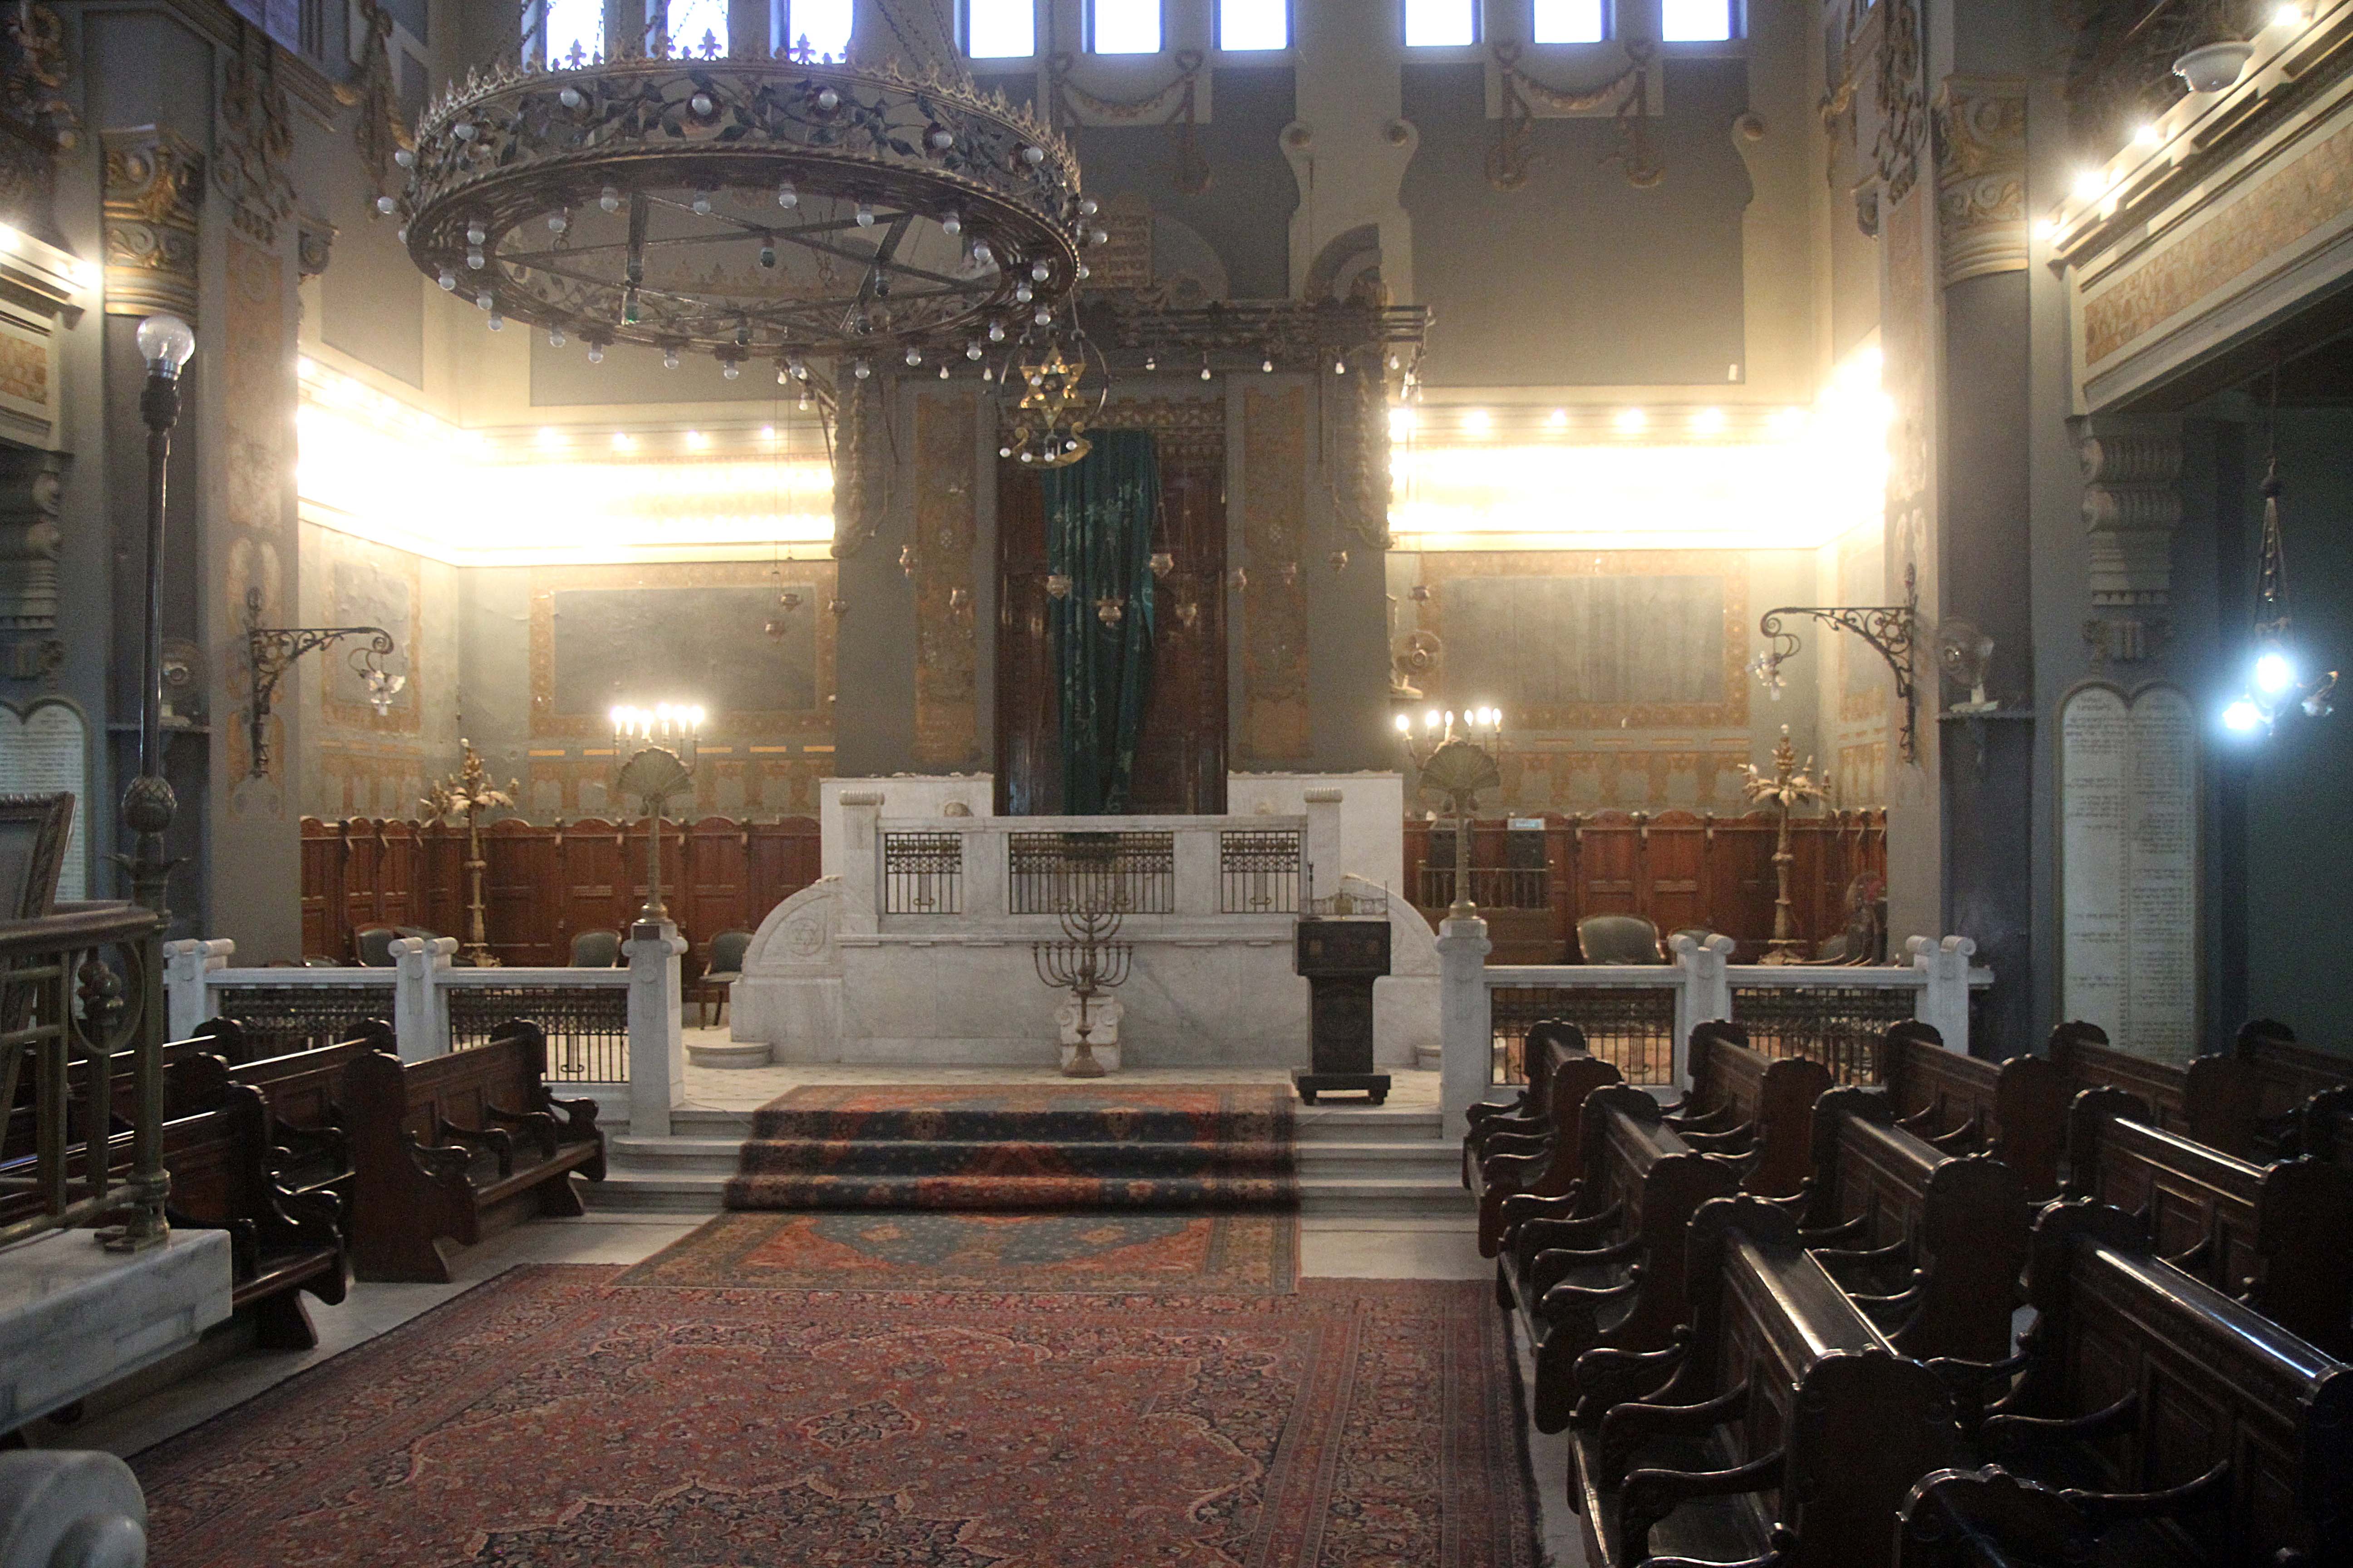
[(1784, 1453), (1767, 1519), (1798, 1533), (1786, 1568), (1878, 1568), (1920, 1476), (1960, 1460), (1951, 1392), (1854, 1309), (1798, 1239), (1753, 1197), (1692, 1215), (1687, 1272), (1701, 1392), (1748, 1389), (1739, 1460)]

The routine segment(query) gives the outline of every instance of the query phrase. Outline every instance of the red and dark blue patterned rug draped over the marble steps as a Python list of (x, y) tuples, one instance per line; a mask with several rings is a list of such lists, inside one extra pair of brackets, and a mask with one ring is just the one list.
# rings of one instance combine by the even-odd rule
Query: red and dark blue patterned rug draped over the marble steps
[(727, 1208), (1299, 1204), (1292, 1091), (809, 1084), (753, 1112)]

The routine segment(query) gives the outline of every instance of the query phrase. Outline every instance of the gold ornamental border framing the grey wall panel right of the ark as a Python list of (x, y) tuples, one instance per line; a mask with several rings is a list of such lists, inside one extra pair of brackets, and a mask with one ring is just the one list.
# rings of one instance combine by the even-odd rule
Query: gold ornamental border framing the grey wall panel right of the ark
[[(1748, 724), (1748, 576), (1746, 557), (1722, 550), (1433, 550), (1421, 557), (1421, 581), (1431, 602), (1421, 625), (1447, 646), (1466, 642), (1471, 628), (1447, 628), (1447, 585), (1466, 578), (1562, 578), (1562, 576), (1680, 576), (1722, 583), (1722, 646), (1715, 656), (1715, 696), (1692, 703), (1558, 703), (1511, 710), (1515, 729), (1746, 729)], [(1452, 693), (1480, 701), (1480, 693)], [(1739, 759), (1746, 762), (1746, 741)]]

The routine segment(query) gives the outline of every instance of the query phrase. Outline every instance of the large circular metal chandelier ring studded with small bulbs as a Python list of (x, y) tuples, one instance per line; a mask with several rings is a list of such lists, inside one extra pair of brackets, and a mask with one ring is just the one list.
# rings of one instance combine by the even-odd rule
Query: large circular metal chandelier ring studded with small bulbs
[(1104, 242), (1078, 160), (1028, 110), (793, 54), (468, 75), (400, 158), (407, 190), (381, 207), (492, 327), (576, 336), (591, 360), (708, 353), (727, 376), (979, 360), (1052, 322)]

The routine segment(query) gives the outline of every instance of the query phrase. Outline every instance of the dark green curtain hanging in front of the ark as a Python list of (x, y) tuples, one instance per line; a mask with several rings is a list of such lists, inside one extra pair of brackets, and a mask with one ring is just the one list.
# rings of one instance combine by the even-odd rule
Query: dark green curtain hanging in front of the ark
[[(1061, 668), (1061, 809), (1068, 816), (1127, 811), (1136, 733), (1153, 682), (1153, 517), (1160, 456), (1146, 430), (1099, 430), (1094, 449), (1045, 482), (1047, 571), (1071, 578), (1054, 604)], [(1104, 625), (1096, 599), (1127, 602)]]

